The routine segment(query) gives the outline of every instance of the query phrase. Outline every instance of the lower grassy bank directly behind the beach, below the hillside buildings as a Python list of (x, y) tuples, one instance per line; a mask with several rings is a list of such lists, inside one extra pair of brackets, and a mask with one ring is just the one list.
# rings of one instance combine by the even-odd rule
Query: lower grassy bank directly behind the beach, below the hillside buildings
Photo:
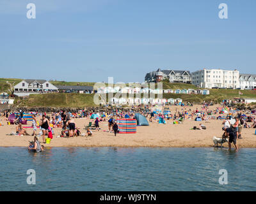
[[(241, 91), (244, 98), (256, 98), (256, 91)], [(113, 96), (115, 96), (114, 94)], [(19, 106), (27, 107), (86, 107), (95, 106), (93, 103), (94, 94), (68, 94), (68, 93), (52, 93), (52, 94), (34, 94), (27, 99), (20, 99)], [(141, 98), (143, 94), (141, 94)], [(157, 97), (157, 94), (156, 94)], [(214, 89), (209, 95), (201, 94), (163, 94), (163, 98), (181, 98), (183, 101), (201, 103), (202, 101), (214, 101), (220, 103), (223, 99), (232, 99), (238, 97), (238, 90)], [(134, 95), (135, 98), (135, 95)], [(108, 99), (108, 95), (107, 95)], [(108, 101), (108, 100), (107, 100)]]

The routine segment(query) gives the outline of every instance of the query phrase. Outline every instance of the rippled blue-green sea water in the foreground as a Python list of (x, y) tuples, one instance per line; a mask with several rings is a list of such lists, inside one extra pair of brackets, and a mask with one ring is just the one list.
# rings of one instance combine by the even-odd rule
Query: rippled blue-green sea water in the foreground
[(255, 163), (256, 149), (0, 147), (0, 191), (255, 191)]

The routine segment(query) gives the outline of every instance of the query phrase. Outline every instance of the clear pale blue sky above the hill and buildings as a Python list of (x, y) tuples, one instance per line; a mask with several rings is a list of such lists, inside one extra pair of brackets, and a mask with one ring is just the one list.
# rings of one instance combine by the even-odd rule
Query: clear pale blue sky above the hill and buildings
[[(228, 19), (219, 18), (221, 3)], [(1, 0), (0, 27), (0, 78), (143, 82), (158, 68), (256, 74), (255, 0)]]

